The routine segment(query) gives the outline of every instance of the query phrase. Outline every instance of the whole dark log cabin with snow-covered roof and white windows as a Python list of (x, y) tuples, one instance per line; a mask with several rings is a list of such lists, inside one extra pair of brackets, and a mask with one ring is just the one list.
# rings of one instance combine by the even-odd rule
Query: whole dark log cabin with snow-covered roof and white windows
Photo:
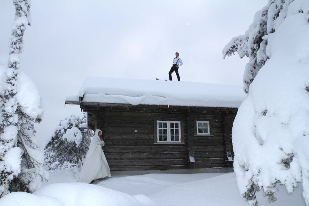
[(101, 129), (111, 171), (233, 167), (232, 125), (241, 86), (87, 77), (66, 104)]

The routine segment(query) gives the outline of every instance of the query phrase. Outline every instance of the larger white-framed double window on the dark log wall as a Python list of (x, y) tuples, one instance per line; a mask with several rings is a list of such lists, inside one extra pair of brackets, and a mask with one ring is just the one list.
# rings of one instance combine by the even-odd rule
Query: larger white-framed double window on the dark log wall
[(180, 142), (180, 121), (157, 121), (157, 143)]

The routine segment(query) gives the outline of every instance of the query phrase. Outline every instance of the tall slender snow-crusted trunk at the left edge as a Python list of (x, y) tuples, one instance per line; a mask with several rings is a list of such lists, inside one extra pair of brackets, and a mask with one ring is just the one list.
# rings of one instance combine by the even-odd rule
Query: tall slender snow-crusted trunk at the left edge
[[(12, 26), (12, 39), (7, 67), (7, 78), (3, 85), (0, 124), (0, 198), (8, 193), (9, 183), (20, 172), (21, 150), (17, 145), (18, 115), (16, 110), (17, 76), (20, 53), (23, 51), (23, 35), (26, 25), (30, 25), (28, 0), (13, 0), (15, 20)], [(14, 162), (15, 161), (15, 162)], [(18, 163), (19, 162), (19, 163)]]

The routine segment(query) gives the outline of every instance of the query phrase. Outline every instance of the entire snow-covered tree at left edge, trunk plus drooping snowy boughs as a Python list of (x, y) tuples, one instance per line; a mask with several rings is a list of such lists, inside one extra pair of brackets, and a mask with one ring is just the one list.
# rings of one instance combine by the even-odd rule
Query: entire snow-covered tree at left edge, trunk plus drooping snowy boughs
[[(23, 34), (30, 25), (30, 2), (13, 1), (16, 9), (12, 26), (12, 42), (6, 71), (0, 67), (0, 196), (8, 191), (33, 192), (40, 187), (48, 173), (43, 168), (33, 122), (43, 114), (41, 97), (32, 80), (19, 71)], [(18, 175), (17, 175), (18, 174)], [(3, 183), (3, 184), (2, 184)]]

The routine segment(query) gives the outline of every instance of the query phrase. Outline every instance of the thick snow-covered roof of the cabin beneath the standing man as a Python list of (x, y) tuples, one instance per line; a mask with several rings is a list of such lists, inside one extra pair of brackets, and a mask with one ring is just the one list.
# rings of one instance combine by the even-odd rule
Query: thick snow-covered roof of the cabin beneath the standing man
[(238, 108), (246, 98), (242, 86), (189, 81), (87, 77), (77, 96), (66, 104), (119, 103)]

